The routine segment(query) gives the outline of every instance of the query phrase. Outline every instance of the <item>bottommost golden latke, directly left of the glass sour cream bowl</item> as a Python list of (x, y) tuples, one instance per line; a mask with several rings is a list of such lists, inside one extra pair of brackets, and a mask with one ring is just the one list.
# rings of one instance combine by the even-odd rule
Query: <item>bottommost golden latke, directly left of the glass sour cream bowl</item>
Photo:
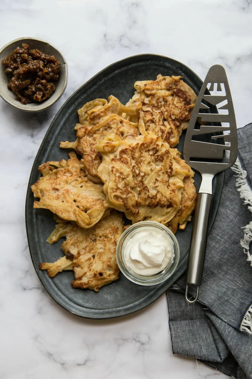
[(54, 243), (65, 236), (62, 250), (66, 255), (54, 263), (40, 263), (40, 269), (48, 270), (49, 277), (64, 269), (73, 269), (76, 280), (72, 286), (94, 291), (119, 278), (116, 244), (123, 232), (122, 214), (113, 211), (90, 229), (62, 219), (57, 222), (47, 241)]

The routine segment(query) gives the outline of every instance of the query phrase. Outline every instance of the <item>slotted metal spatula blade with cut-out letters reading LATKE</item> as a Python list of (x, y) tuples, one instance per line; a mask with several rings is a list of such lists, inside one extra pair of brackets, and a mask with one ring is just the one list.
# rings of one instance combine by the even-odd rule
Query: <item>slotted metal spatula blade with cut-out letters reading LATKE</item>
[[(218, 113), (210, 113), (213, 106)], [(223, 132), (228, 134), (223, 136)], [(211, 136), (213, 142), (200, 141), (198, 136), (204, 135)], [(216, 143), (218, 138), (226, 144)], [(225, 150), (230, 151), (228, 163), (223, 162)], [(193, 108), (184, 142), (184, 160), (201, 174), (215, 175), (232, 166), (237, 153), (237, 127), (227, 75), (224, 67), (216, 64), (209, 69)]]

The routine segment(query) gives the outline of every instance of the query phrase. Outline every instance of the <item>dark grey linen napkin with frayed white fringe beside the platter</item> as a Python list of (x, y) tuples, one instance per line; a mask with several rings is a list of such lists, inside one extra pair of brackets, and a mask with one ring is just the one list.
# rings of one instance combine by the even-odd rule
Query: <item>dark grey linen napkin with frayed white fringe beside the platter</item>
[[(173, 353), (238, 379), (252, 378), (251, 144), (249, 124), (238, 129), (238, 160), (225, 173), (199, 302), (186, 302), (185, 275), (167, 291)], [(192, 288), (189, 292), (195, 295)]]

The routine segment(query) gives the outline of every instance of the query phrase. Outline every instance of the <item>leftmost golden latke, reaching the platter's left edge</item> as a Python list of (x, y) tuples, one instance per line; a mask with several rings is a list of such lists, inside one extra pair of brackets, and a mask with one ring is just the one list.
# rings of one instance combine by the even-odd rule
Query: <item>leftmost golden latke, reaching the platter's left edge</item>
[(69, 156), (67, 161), (39, 166), (43, 176), (31, 186), (34, 197), (40, 198), (34, 201), (34, 208), (49, 209), (82, 228), (90, 228), (102, 218), (108, 204), (102, 185), (87, 178), (76, 153), (70, 152)]

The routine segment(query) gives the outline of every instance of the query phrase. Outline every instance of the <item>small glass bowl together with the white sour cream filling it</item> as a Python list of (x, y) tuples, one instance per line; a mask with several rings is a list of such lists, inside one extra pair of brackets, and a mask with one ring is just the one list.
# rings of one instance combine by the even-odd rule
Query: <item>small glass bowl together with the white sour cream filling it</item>
[(170, 229), (159, 222), (138, 222), (121, 235), (116, 259), (122, 273), (132, 282), (159, 284), (168, 279), (178, 265), (178, 241)]

